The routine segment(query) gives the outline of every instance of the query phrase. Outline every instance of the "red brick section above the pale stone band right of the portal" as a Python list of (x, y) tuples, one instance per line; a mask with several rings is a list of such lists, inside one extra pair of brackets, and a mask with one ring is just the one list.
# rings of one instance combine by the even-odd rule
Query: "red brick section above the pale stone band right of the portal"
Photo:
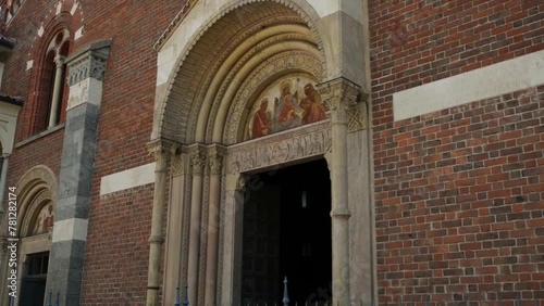
[(544, 3), (370, 1), (373, 125), (392, 93), (544, 49)]

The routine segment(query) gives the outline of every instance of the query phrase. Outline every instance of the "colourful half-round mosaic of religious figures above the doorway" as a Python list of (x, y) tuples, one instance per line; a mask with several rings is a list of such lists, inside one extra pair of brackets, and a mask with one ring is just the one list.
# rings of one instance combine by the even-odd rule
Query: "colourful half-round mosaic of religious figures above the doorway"
[(317, 123), (325, 117), (316, 81), (307, 76), (285, 77), (273, 82), (257, 99), (246, 139)]

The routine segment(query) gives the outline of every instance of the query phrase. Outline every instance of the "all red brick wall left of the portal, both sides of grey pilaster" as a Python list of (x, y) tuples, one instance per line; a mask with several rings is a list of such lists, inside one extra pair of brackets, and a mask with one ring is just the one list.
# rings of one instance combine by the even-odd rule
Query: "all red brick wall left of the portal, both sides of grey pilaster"
[[(46, 13), (54, 12), (58, 3), (34, 2), (26, 1), (4, 33), (17, 39), (17, 44), (4, 67), (2, 91), (25, 100), (34, 92), (32, 78), (36, 68), (26, 71), (26, 62), (37, 52), (36, 34), (41, 23), (52, 20)], [(98, 126), (82, 305), (145, 303), (152, 184), (101, 197), (100, 178), (153, 162), (146, 146), (151, 135), (157, 75), (157, 50), (152, 46), (183, 2), (78, 2), (77, 17), (83, 18), (85, 27), (72, 50), (112, 39)], [(71, 30), (75, 33), (78, 28), (75, 25)], [(17, 142), (29, 135), (23, 131), (30, 113), (29, 103), (20, 112)], [(10, 183), (40, 164), (59, 176), (63, 131), (16, 149), (10, 165)]]

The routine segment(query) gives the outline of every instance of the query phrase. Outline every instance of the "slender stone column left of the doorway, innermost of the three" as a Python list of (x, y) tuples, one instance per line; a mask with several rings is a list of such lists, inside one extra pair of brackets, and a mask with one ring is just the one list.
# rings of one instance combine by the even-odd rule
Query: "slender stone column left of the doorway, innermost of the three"
[(206, 252), (205, 305), (215, 305), (218, 282), (219, 213), (221, 195), (222, 148), (213, 146), (209, 153), (210, 196), (208, 209), (208, 245)]

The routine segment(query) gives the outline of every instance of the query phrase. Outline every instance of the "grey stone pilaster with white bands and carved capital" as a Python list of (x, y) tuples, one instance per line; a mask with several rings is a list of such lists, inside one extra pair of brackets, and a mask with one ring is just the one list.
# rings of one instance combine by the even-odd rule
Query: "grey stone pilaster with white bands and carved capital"
[(97, 124), (110, 43), (91, 44), (66, 61), (70, 100), (47, 280), (47, 291), (60, 291), (61, 305), (79, 305)]

